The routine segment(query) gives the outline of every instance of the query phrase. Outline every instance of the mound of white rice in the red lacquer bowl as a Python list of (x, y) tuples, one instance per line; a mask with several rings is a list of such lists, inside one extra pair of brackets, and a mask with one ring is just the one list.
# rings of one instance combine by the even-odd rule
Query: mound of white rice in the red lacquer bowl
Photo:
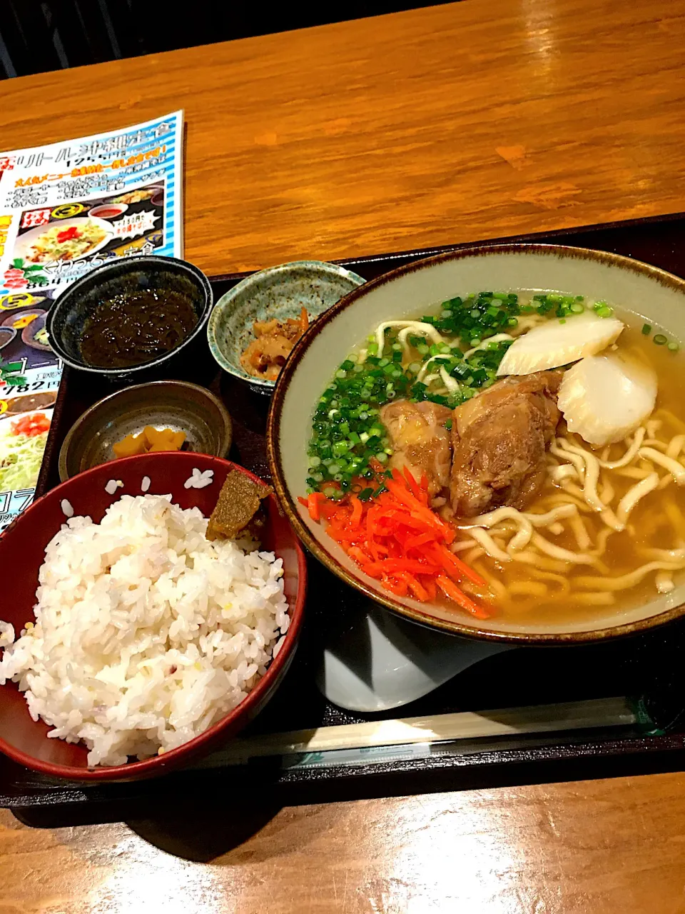
[[(180, 746), (236, 707), (288, 629), (282, 559), (205, 539), (197, 508), (123, 495), (72, 517), (39, 572), (35, 625), (0, 622), (0, 683), (89, 765)], [(70, 505), (69, 505), (70, 506)], [(279, 631), (280, 630), (280, 631)]]

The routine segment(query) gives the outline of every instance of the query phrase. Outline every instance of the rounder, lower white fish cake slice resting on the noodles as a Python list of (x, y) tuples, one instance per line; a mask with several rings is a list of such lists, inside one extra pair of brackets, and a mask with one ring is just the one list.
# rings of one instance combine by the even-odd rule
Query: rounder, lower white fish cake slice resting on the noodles
[(557, 404), (569, 431), (588, 444), (621, 441), (654, 409), (657, 376), (620, 352), (588, 356), (564, 374)]

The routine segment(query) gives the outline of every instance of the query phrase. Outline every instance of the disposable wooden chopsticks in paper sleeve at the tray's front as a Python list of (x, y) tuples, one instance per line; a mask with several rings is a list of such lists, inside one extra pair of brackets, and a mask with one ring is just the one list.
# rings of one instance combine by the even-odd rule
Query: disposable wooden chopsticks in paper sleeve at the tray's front
[(341, 749), (411, 746), (487, 737), (522, 736), (597, 727), (627, 727), (638, 716), (626, 697), (570, 701), (558, 705), (460, 711), (426, 717), (398, 717), (310, 730), (234, 739), (193, 768), (246, 764), (251, 759)]

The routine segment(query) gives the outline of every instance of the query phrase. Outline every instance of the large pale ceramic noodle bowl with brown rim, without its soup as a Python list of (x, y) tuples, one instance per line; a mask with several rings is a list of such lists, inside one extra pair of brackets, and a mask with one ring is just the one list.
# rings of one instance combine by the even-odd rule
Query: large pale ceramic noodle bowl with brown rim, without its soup
[[(301, 338), (279, 378), (269, 415), (269, 462), (290, 522), (311, 552), (346, 583), (400, 616), (444, 632), (491, 643), (568, 644), (638, 632), (679, 617), (685, 611), (685, 570), (680, 569), (673, 572), (669, 592), (659, 592), (651, 572), (651, 578), (645, 579), (648, 586), (617, 593), (611, 601), (613, 605), (599, 605), (601, 600), (597, 600), (591, 610), (587, 608), (590, 601), (577, 598), (571, 590), (568, 600), (575, 600), (579, 607), (583, 604), (582, 611), (575, 616), (574, 605), (572, 611), (557, 611), (555, 615), (553, 600), (545, 607), (543, 616), (498, 611), (495, 599), (490, 616), (478, 619), (447, 601), (419, 602), (409, 596), (395, 596), (377, 579), (364, 574), (326, 535), (324, 525), (312, 521), (307, 509), (298, 502), (298, 496), (307, 491), (306, 479), (310, 474), (307, 448), (311, 419), (336, 367), (379, 324), (436, 314), (439, 303), (457, 296), (463, 299), (481, 290), (583, 295), (593, 302), (615, 305), (616, 316), (627, 322), (624, 338), (635, 340), (637, 335), (640, 345), (643, 341), (639, 328), (643, 324), (663, 328), (670, 340), (685, 339), (685, 281), (614, 254), (562, 246), (500, 245), (460, 250), (387, 273), (351, 292), (324, 314)], [(572, 319), (569, 318), (569, 324)], [(665, 342), (664, 337), (655, 336), (654, 340)], [(669, 353), (666, 345), (653, 346), (652, 342), (645, 337), (644, 345), (651, 346), (659, 358), (675, 360), (669, 368), (669, 377), (677, 378), (682, 353)], [(675, 343), (672, 348), (676, 349)], [(659, 376), (659, 385), (661, 382)], [(678, 386), (669, 384), (671, 388)], [(664, 384), (664, 389), (667, 387)], [(677, 404), (678, 398), (672, 395), (670, 390), (670, 401)], [(636, 465), (633, 478), (638, 479), (639, 473), (645, 474)], [(660, 469), (660, 473), (664, 471)], [(645, 512), (652, 511), (647, 515), (648, 520), (653, 518), (653, 512), (659, 512), (664, 500), (680, 497), (675, 477), (662, 482), (669, 486), (661, 486), (663, 493), (653, 493), (651, 508), (644, 507)], [(544, 533), (552, 536), (546, 530)], [(606, 561), (616, 563), (616, 558), (609, 557)], [(507, 568), (514, 568), (514, 564)], [(529, 580), (534, 578), (534, 572), (521, 565), (519, 569), (520, 580), (525, 581), (526, 575), (530, 576)], [(620, 577), (615, 566), (609, 567), (608, 573)], [(579, 588), (584, 586), (578, 584)], [(606, 604), (609, 602), (607, 599)]]

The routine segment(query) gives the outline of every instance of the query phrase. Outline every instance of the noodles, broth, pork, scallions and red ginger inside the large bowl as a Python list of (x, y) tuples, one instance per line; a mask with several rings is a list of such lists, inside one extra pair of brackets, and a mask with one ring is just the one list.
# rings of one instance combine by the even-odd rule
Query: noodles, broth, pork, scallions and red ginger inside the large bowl
[(479, 617), (577, 621), (668, 593), (678, 350), (580, 295), (479, 292), (387, 321), (321, 394), (300, 501), (386, 590)]

